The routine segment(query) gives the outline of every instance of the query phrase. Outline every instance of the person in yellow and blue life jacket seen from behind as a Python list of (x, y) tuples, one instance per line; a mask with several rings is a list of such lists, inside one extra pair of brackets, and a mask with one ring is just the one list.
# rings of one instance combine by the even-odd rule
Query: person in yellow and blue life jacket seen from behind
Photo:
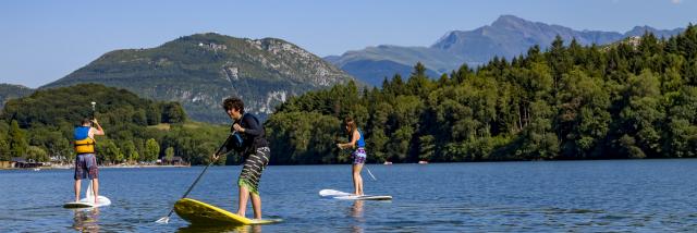
[[(96, 128), (90, 126), (90, 122), (94, 122)], [(99, 170), (97, 169), (97, 157), (95, 155), (95, 135), (105, 135), (105, 131), (97, 122), (97, 119), (89, 120), (84, 119), (81, 125), (75, 127), (74, 131), (74, 144), (75, 144), (75, 201), (80, 201), (80, 186), (83, 179), (89, 179), (91, 181), (91, 187), (95, 195), (95, 204), (99, 198)]]

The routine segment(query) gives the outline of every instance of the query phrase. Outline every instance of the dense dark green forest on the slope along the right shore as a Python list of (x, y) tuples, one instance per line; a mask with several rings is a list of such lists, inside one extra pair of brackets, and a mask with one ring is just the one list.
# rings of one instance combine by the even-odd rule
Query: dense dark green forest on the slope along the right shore
[[(416, 64), (382, 88), (338, 85), (291, 98), (266, 122), (277, 163), (347, 160), (357, 120), (369, 162), (697, 157), (697, 27), (611, 46), (560, 37), (512, 60), (439, 78)], [(341, 156), (340, 156), (341, 155)]]

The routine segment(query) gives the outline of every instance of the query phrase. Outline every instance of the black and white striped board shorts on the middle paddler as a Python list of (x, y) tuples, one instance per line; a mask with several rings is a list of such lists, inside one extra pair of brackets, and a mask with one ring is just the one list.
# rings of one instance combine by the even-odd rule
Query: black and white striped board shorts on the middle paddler
[(271, 150), (269, 147), (257, 148), (256, 154), (249, 155), (244, 161), (244, 167), (242, 168), (242, 173), (240, 173), (237, 184), (258, 195), (261, 172), (264, 172), (266, 165), (269, 164)]

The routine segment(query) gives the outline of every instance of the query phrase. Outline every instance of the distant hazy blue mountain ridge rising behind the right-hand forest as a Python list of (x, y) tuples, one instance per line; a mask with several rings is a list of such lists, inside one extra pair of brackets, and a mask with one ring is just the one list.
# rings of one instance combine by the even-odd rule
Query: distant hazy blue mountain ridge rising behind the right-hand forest
[[(557, 35), (564, 41), (573, 38), (582, 45), (607, 45), (628, 36), (640, 36), (645, 32), (653, 33), (657, 37), (670, 37), (682, 32), (683, 28), (671, 30), (656, 29), (649, 26), (634, 27), (624, 34), (600, 30), (574, 30), (559, 25), (530, 22), (513, 15), (502, 15), (491, 25), (474, 30), (453, 30), (447, 33), (430, 47), (400, 47), (378, 46), (363, 50), (347, 51), (342, 56), (326, 58), (337, 66), (343, 69), (356, 78), (375, 84), (383, 77), (391, 77), (394, 73), (408, 75), (404, 66), (412, 68), (420, 61), (435, 73), (447, 73), (457, 69), (463, 63), (476, 66), (488, 62), (494, 56), (512, 58), (525, 53), (528, 48), (539, 45), (547, 48)], [(388, 64), (381, 66), (375, 64)], [(352, 64), (374, 65), (352, 65)]]

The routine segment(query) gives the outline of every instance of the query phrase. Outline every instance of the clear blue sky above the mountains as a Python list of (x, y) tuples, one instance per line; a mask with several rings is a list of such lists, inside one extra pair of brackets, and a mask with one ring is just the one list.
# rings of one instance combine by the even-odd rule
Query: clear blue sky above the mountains
[(2, 0), (0, 83), (36, 88), (106, 52), (197, 33), (281, 38), (326, 57), (377, 45), (430, 46), (502, 14), (573, 29), (672, 29), (697, 23), (697, 0)]

